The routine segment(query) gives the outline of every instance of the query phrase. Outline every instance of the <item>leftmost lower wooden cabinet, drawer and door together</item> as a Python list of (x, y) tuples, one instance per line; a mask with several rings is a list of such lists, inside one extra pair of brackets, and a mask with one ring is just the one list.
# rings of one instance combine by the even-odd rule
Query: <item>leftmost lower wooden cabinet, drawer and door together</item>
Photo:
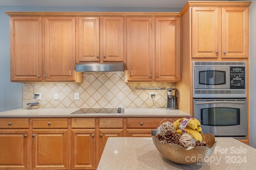
[(28, 170), (28, 119), (0, 119), (0, 170)]

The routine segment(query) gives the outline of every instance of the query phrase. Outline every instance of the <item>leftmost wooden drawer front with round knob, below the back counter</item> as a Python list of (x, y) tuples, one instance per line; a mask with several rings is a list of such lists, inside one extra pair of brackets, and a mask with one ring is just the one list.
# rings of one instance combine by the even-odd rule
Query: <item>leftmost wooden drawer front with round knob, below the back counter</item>
[(28, 128), (28, 119), (0, 119), (0, 128)]

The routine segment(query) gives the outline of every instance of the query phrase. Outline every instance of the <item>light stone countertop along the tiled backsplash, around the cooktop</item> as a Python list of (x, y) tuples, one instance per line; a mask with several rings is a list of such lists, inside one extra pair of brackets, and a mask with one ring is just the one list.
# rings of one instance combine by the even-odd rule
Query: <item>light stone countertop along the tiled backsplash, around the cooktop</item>
[(190, 114), (165, 108), (125, 108), (124, 114), (70, 114), (80, 108), (14, 109), (0, 112), (0, 117), (190, 117)]

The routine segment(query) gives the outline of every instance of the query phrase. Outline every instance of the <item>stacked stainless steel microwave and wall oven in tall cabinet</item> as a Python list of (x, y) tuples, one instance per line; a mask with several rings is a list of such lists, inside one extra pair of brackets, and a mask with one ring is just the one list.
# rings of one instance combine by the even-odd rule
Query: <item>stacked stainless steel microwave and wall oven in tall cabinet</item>
[(193, 62), (193, 98), (204, 133), (246, 139), (246, 62)]

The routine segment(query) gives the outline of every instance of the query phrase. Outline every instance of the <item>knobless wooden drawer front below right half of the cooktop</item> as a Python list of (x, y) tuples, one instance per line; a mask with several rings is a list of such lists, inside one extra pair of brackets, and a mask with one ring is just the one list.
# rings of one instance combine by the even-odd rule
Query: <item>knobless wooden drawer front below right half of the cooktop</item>
[(123, 119), (100, 119), (100, 128), (123, 128)]

